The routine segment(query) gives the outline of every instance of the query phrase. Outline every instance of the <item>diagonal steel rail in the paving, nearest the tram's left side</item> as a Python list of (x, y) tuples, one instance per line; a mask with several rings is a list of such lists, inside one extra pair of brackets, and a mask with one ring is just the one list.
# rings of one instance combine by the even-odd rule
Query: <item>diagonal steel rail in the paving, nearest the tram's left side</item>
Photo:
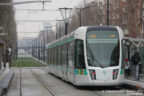
[(57, 96), (52, 88), (48, 85), (48, 83), (43, 80), (40, 75), (36, 74), (32, 69), (30, 69), (30, 71), (32, 72), (33, 76), (50, 92), (52, 96)]

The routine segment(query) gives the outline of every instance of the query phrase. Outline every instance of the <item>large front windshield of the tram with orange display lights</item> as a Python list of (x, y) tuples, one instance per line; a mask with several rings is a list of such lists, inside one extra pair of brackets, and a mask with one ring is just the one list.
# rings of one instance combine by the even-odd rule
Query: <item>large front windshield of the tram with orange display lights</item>
[(119, 36), (117, 31), (91, 30), (87, 32), (88, 65), (111, 67), (119, 65)]

